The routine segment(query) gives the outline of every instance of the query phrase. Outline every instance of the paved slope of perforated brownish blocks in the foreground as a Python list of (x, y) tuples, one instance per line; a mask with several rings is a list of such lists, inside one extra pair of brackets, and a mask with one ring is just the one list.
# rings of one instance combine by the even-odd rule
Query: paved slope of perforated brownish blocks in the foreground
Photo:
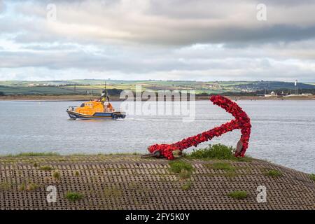
[[(190, 179), (170, 172), (166, 160), (138, 155), (0, 158), (0, 209), (315, 208), (315, 184), (308, 174), (261, 160), (225, 161), (232, 171), (213, 166), (215, 160), (186, 161), (195, 168)], [(267, 176), (268, 170), (282, 175)], [(48, 186), (57, 188), (55, 203), (46, 200)], [(265, 203), (256, 201), (258, 186), (267, 188)], [(229, 197), (235, 190), (248, 197)], [(69, 191), (83, 198), (71, 202)]]

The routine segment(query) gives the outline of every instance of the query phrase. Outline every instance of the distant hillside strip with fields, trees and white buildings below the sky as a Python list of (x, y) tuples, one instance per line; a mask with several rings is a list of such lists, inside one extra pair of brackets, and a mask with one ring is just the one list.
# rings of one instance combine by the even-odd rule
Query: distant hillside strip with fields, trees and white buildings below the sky
[(123, 90), (195, 90), (196, 95), (223, 94), (257, 97), (309, 97), (315, 94), (314, 83), (280, 81), (191, 81), (191, 80), (51, 80), (51, 81), (0, 81), (1, 95), (23, 94), (93, 94), (108, 84), (110, 94)]

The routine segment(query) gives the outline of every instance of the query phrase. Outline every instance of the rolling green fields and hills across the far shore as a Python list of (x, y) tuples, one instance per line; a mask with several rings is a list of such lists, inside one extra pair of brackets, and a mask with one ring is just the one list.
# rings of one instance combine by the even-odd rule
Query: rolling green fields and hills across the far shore
[[(255, 92), (257, 90), (294, 90), (294, 83), (275, 81), (214, 81), (200, 82), (190, 80), (48, 80), (48, 81), (0, 81), (0, 93), (16, 94), (97, 94), (104, 88), (109, 90), (136, 90), (141, 85), (142, 90), (195, 90), (196, 94), (213, 94), (224, 92)], [(298, 83), (299, 88), (315, 89), (314, 83)]]

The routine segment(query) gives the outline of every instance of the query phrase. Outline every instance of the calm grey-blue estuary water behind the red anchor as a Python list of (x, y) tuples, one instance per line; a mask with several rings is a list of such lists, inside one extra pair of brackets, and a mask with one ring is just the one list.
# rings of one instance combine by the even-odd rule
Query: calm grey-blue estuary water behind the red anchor
[[(315, 173), (315, 101), (237, 103), (248, 113), (253, 126), (247, 155)], [(80, 104), (0, 101), (0, 154), (146, 153), (151, 144), (179, 141), (232, 119), (211, 102), (199, 101), (195, 102), (195, 120), (191, 123), (184, 123), (182, 116), (154, 115), (127, 115), (124, 120), (70, 120), (67, 107)], [(116, 108), (120, 104), (113, 102)], [(239, 130), (235, 130), (198, 148), (217, 143), (236, 146), (239, 137)]]

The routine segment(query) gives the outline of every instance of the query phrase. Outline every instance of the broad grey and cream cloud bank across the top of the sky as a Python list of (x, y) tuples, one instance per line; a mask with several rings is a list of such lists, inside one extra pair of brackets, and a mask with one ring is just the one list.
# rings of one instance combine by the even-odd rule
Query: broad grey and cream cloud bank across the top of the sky
[[(18, 22), (14, 27), (24, 32), (15, 41), (27, 43), (57, 38), (79, 42), (125, 41), (155, 45), (248, 42), (259, 45), (315, 37), (315, 15), (307, 10), (315, 10), (315, 2), (309, 0), (263, 1), (267, 4), (269, 15), (265, 22), (258, 22), (255, 18), (255, 6), (259, 1), (237, 3), (229, 0), (218, 3), (153, 0), (128, 3), (60, 0), (54, 1), (59, 22), (55, 26), (45, 21), (45, 3), (50, 1), (29, 2), (34, 7), (21, 3), (18, 12), (25, 16), (37, 16), (38, 20), (33, 22), (34, 27)], [(295, 15), (300, 15), (297, 22)], [(73, 29), (73, 25), (78, 30), (69, 34), (66, 27)]]

